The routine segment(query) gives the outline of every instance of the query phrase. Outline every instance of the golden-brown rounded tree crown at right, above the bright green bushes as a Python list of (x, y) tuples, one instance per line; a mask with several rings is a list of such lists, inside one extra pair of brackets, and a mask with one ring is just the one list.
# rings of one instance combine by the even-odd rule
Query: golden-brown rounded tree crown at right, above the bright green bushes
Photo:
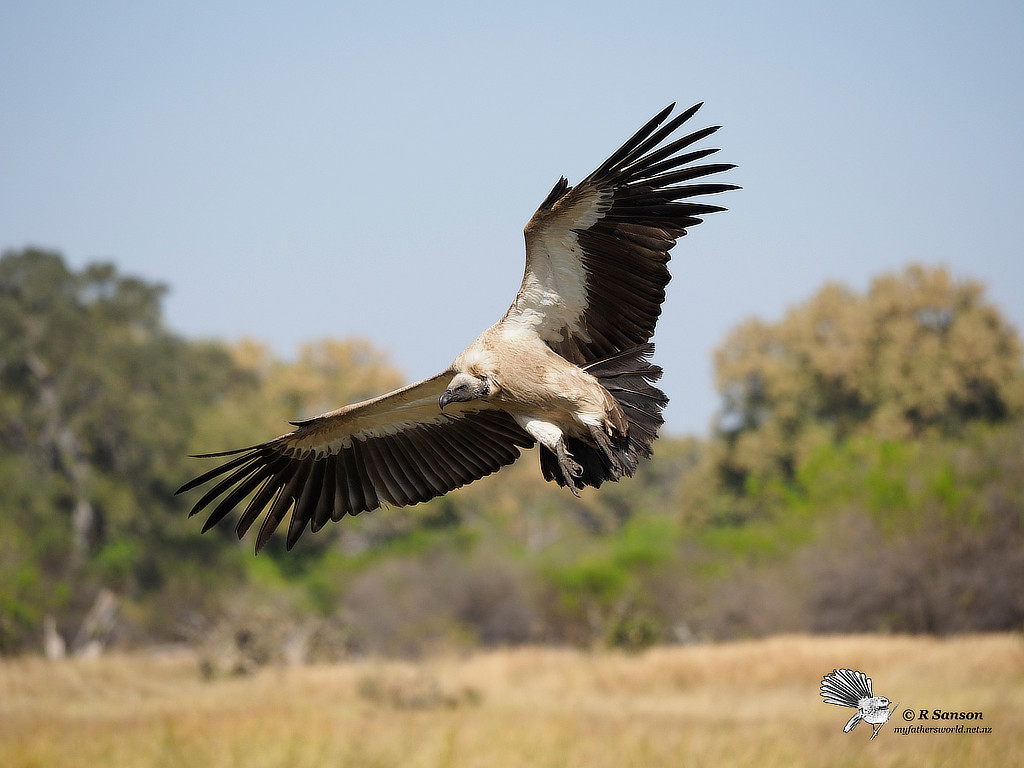
[(815, 447), (856, 434), (956, 436), (1024, 413), (1021, 342), (982, 287), (910, 266), (866, 294), (826, 285), (778, 323), (751, 319), (716, 350), (721, 467), (792, 477)]

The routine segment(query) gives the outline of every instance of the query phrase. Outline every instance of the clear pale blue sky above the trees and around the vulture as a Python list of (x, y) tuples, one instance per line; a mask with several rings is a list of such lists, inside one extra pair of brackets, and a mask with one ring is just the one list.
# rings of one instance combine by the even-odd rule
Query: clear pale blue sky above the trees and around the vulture
[[(671, 101), (743, 186), (673, 252), (672, 432), (712, 350), (911, 261), (1024, 327), (1024, 4), (0, 4), (0, 249), (166, 283), (169, 325), (432, 375), (507, 308), (522, 226)], [(341, 404), (341, 403), (339, 403)]]

